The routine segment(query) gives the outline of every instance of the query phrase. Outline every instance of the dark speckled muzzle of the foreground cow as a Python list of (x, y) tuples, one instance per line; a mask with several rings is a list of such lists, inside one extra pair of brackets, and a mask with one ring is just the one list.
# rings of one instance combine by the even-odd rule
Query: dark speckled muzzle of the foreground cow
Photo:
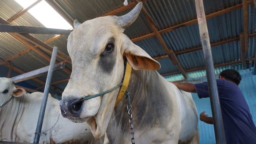
[(61, 100), (60, 111), (61, 115), (66, 118), (79, 118), (83, 101), (80, 99)]

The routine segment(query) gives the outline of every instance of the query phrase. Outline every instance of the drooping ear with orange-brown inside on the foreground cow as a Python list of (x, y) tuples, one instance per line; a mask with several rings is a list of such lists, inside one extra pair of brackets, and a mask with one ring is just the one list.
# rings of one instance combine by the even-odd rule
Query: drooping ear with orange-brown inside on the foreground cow
[(142, 48), (129, 42), (125, 46), (123, 55), (135, 70), (157, 70), (161, 68), (159, 62), (150, 57)]

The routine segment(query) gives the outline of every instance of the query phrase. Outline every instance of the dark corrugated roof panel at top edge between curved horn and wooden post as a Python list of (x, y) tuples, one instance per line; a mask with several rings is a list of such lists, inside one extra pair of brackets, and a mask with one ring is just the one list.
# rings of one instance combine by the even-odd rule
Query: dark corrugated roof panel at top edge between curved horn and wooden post
[(144, 5), (160, 30), (196, 18), (192, 0), (148, 0)]

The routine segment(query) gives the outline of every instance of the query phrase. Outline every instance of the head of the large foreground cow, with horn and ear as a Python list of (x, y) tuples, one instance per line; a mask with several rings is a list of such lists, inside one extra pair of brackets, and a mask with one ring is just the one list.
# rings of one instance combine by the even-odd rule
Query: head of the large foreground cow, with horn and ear
[(160, 64), (123, 34), (138, 17), (142, 3), (123, 16), (99, 17), (80, 24), (68, 37), (72, 73), (60, 102), (61, 114), (73, 122), (87, 122), (94, 137), (103, 136), (114, 110), (119, 88), (86, 101), (82, 98), (121, 83), (124, 60), (135, 70), (157, 70)]

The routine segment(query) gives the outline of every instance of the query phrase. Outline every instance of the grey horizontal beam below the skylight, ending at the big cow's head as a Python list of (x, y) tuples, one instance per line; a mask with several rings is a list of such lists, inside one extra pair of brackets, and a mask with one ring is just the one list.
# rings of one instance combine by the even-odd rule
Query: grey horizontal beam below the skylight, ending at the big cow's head
[(0, 32), (69, 35), (69, 33), (71, 33), (72, 30), (51, 29), (51, 28), (46, 28), (46, 27), (14, 26), (14, 25), (10, 25), (10, 24), (0, 24)]

